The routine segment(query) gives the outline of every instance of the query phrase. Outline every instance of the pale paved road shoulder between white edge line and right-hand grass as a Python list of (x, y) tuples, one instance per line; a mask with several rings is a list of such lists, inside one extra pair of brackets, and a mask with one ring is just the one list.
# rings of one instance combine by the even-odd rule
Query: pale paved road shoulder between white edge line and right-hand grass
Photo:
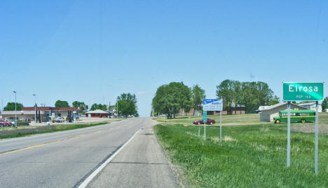
[(88, 184), (88, 187), (179, 187), (148, 119), (144, 128)]

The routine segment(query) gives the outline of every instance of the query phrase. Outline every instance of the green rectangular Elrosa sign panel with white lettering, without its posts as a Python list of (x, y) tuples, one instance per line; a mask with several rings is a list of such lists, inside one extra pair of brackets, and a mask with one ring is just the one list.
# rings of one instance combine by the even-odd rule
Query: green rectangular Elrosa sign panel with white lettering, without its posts
[(282, 83), (283, 100), (323, 100), (324, 84), (323, 83)]

